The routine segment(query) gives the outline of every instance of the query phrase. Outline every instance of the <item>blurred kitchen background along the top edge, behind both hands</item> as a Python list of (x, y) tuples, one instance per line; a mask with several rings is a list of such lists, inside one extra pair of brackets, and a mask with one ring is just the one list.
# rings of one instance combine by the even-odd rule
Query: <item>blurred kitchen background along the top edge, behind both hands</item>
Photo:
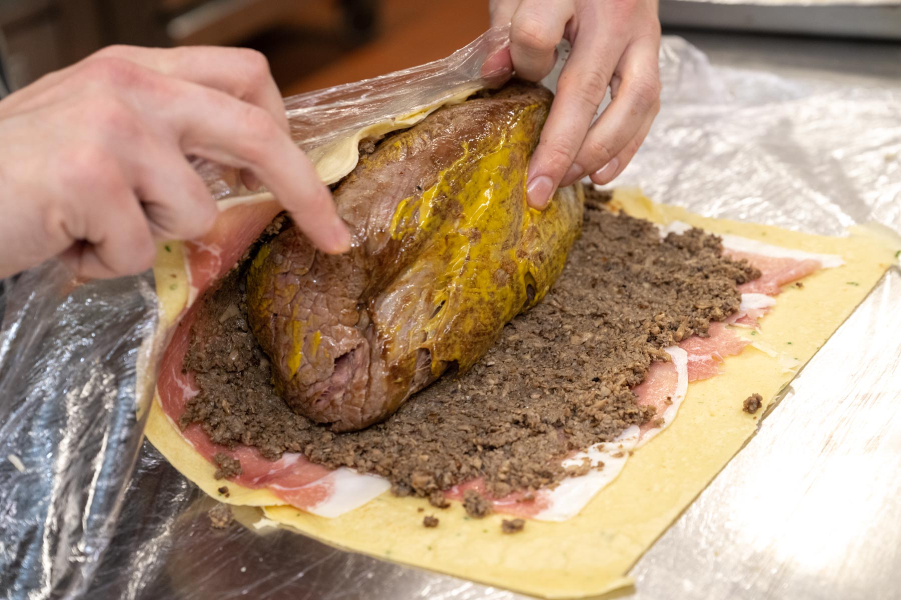
[[(901, 77), (901, 0), (661, 0), (660, 17), (740, 61), (753, 39), (779, 64)], [(112, 43), (217, 44), (261, 50), (297, 94), (441, 58), (487, 25), (487, 0), (0, 0), (13, 88)]]

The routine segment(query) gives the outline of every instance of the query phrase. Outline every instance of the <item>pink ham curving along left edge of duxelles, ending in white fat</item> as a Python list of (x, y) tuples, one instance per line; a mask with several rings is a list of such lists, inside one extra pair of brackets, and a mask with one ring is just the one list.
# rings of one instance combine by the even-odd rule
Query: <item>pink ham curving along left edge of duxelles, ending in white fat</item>
[[(198, 391), (192, 373), (182, 372), (199, 307), (194, 301), (238, 262), (279, 210), (274, 201), (233, 204), (220, 214), (213, 231), (185, 245), (191, 285), (188, 307), (172, 333), (157, 379), (160, 406), (173, 426), (177, 426), (187, 400)], [(207, 461), (213, 462), (218, 453), (240, 461), (241, 474), (230, 478), (234, 483), (245, 488), (268, 488), (287, 504), (314, 515), (341, 515), (390, 488), (387, 479), (350, 469), (330, 471), (298, 453), (286, 452), (278, 461), (269, 461), (250, 446), (229, 450), (211, 442), (200, 425), (190, 425), (181, 434)]]

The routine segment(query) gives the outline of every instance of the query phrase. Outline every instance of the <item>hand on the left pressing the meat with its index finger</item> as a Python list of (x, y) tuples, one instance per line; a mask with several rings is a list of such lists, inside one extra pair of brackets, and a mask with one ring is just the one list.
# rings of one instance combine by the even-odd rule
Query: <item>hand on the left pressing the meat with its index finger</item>
[(155, 239), (202, 236), (217, 210), (187, 156), (240, 168), (316, 246), (348, 249), (261, 54), (119, 46), (0, 102), (0, 277), (55, 255), (82, 277), (141, 273)]

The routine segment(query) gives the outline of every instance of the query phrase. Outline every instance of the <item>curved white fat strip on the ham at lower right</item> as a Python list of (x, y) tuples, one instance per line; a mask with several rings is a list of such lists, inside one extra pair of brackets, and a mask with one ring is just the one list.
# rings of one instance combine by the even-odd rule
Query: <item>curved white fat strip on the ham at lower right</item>
[(669, 396), (671, 404), (660, 415), (663, 420), (662, 424), (644, 432), (638, 425), (633, 425), (624, 430), (613, 442), (596, 443), (585, 452), (578, 452), (575, 456), (563, 461), (564, 467), (578, 467), (584, 461), (590, 461), (592, 470), (585, 475), (563, 479), (556, 488), (544, 491), (550, 504), (538, 514), (533, 515), (533, 519), (566, 521), (578, 515), (579, 511), (588, 504), (591, 498), (595, 497), (597, 492), (616, 479), (635, 448), (647, 443), (651, 437), (659, 434), (672, 423), (678, 407), (682, 404), (688, 391), (688, 354), (675, 345), (665, 350), (672, 358), (678, 379), (673, 390), (666, 390), (666, 396)]

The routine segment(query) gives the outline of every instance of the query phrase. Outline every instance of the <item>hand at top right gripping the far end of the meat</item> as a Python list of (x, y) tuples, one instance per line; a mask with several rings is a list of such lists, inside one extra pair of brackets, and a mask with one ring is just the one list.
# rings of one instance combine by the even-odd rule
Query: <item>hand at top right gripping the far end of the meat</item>
[[(657, 0), (491, 0), (491, 24), (510, 23), (516, 74), (538, 81), (572, 50), (532, 155), (527, 192), (534, 208), (560, 185), (590, 175), (608, 184), (642, 145), (660, 110)], [(613, 101), (592, 124), (609, 85)]]

